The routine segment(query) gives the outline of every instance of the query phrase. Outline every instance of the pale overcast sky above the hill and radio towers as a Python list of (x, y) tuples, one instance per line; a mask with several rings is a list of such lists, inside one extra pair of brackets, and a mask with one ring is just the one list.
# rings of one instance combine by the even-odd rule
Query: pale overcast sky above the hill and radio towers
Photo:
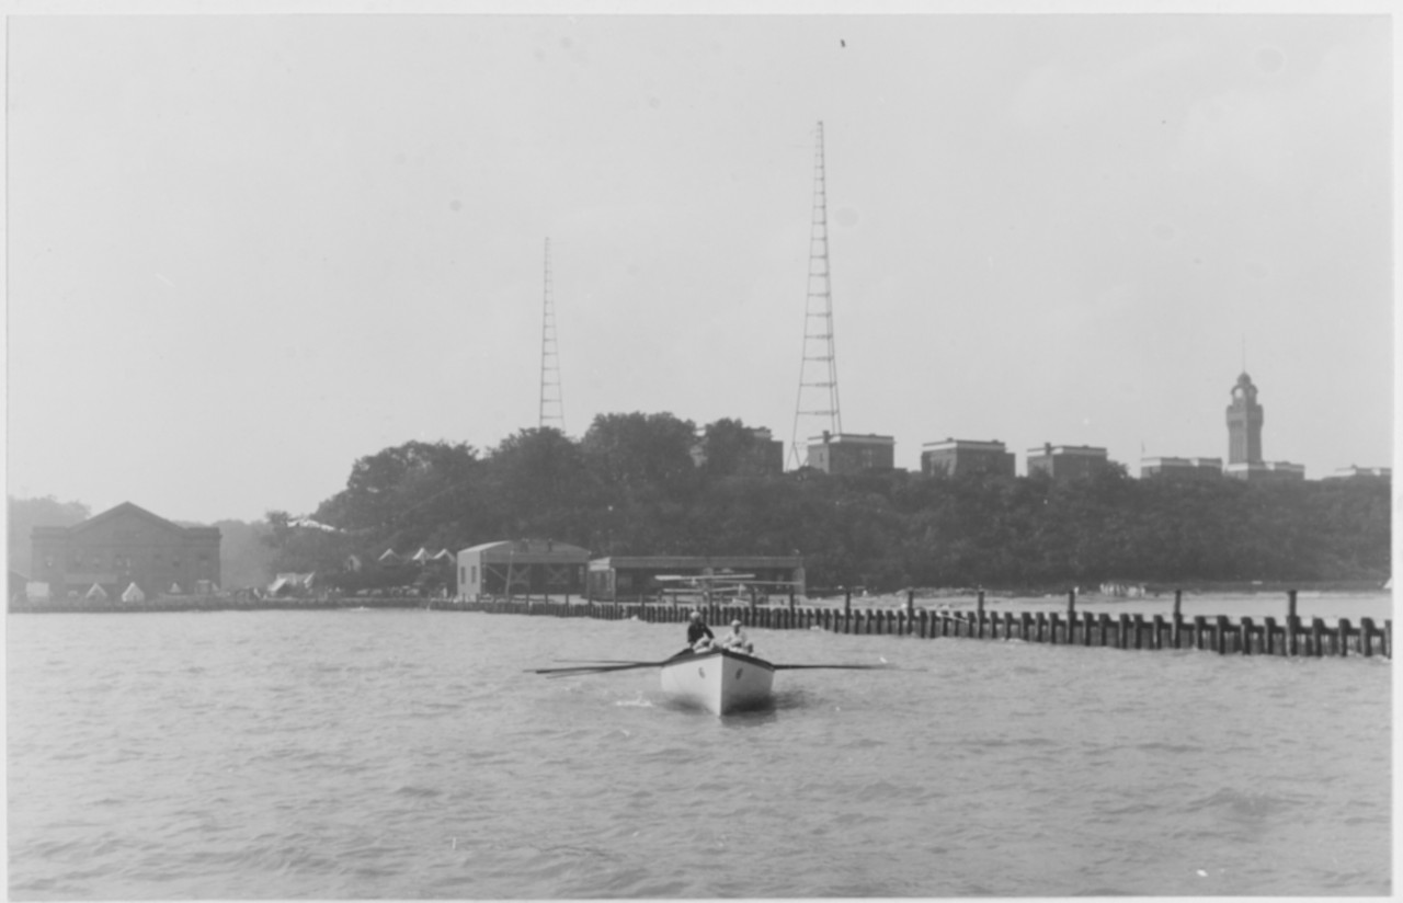
[(537, 425), (788, 443), (824, 122), (842, 423), (1389, 466), (1382, 15), (8, 20), (8, 491), (310, 512)]

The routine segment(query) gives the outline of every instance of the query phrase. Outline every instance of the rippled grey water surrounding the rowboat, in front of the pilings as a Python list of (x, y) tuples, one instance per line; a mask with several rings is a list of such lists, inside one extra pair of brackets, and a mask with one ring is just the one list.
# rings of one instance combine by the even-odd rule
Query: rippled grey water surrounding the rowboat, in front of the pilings
[(680, 625), (13, 616), (14, 899), (1385, 895), (1382, 660), (752, 631), (773, 708), (673, 708)]

